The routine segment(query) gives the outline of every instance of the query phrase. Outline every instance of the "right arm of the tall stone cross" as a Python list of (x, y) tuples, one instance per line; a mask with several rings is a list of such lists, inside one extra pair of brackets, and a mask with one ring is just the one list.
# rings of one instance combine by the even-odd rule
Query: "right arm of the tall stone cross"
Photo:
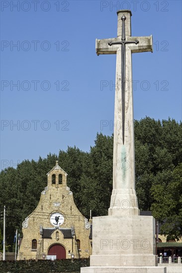
[(143, 36), (143, 37), (128, 37), (127, 39), (127, 41), (135, 41), (135, 40), (139, 41), (137, 45), (135, 44), (129, 45), (129, 48), (132, 53), (153, 52), (152, 35)]

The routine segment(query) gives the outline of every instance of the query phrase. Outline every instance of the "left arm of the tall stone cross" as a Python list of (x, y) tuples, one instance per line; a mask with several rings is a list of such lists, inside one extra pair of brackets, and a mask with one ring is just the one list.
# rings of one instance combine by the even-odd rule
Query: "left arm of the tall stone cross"
[(113, 43), (117, 42), (118, 38), (110, 38), (110, 39), (102, 39), (102, 40), (96, 39), (95, 50), (96, 50), (97, 56), (99, 56), (100, 54), (116, 54), (119, 45), (109, 46), (108, 42), (110, 41)]

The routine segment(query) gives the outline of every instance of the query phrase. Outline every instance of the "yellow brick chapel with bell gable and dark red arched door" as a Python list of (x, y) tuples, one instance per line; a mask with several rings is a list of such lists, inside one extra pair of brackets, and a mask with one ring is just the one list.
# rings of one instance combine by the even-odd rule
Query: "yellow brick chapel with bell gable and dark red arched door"
[(79, 211), (58, 165), (47, 174), (48, 185), (35, 210), (22, 223), (19, 260), (87, 258), (91, 224)]

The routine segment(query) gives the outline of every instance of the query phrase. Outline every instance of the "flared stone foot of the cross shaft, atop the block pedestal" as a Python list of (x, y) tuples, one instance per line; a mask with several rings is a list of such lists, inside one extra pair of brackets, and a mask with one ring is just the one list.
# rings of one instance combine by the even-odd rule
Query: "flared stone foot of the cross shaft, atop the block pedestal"
[(140, 215), (136, 192), (133, 189), (114, 189), (108, 215)]

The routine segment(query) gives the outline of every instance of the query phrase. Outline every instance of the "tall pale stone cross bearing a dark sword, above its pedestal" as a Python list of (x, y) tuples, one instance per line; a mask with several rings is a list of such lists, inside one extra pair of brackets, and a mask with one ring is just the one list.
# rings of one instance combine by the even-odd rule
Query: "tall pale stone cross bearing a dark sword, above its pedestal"
[(152, 52), (152, 35), (131, 37), (131, 11), (117, 11), (117, 37), (96, 39), (96, 54), (116, 54), (113, 190), (109, 215), (139, 215), (135, 155), (131, 54)]

